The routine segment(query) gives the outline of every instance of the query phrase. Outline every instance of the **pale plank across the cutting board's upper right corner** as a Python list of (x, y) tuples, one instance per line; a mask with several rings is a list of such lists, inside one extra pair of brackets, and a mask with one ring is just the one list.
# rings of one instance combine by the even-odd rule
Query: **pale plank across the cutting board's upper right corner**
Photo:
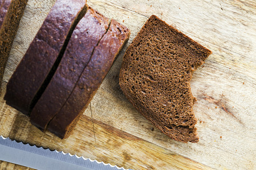
[(255, 1), (106, 1), (147, 17), (159, 15), (200, 42), (207, 41), (241, 55), (256, 52)]

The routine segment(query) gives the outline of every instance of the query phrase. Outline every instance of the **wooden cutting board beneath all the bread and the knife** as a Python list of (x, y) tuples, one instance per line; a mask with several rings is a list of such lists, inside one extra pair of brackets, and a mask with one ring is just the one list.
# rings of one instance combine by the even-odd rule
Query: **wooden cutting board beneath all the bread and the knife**
[[(5, 104), (6, 83), (46, 18), (54, 0), (30, 0), (7, 63), (0, 97), (0, 135), (132, 169), (255, 169), (256, 3), (254, 0), (88, 0), (131, 30), (71, 137), (42, 133)], [(199, 143), (168, 138), (141, 116), (119, 87), (123, 54), (155, 14), (212, 50), (191, 82)], [(16, 165), (0, 162), (0, 167)]]

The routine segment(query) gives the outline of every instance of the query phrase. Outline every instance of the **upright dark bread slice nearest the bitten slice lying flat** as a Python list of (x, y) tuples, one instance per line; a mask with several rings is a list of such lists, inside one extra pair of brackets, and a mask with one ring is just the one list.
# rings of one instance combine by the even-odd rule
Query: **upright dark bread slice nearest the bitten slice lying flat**
[(49, 122), (49, 131), (59, 138), (67, 138), (71, 134), (129, 36), (129, 29), (111, 20), (108, 32), (94, 49), (93, 56), (71, 96), (61, 111)]

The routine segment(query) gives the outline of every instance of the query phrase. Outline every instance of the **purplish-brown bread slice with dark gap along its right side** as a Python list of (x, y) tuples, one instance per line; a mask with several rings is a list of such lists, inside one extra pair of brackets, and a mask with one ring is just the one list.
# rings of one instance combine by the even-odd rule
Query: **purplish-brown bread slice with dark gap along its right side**
[(84, 16), (85, 4), (85, 0), (55, 2), (7, 84), (8, 105), (29, 116), (51, 80), (73, 29)]

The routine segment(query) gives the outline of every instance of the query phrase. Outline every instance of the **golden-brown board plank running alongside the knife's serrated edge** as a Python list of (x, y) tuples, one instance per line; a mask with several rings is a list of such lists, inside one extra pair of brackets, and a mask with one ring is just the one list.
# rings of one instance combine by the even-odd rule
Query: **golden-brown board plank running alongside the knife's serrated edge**
[(2, 104), (0, 133), (16, 141), (97, 159), (99, 162), (116, 164), (118, 167), (211, 169), (85, 115), (82, 116), (71, 137), (61, 140), (49, 132), (42, 133), (30, 124), (28, 117), (5, 105), (2, 99), (0, 102)]

